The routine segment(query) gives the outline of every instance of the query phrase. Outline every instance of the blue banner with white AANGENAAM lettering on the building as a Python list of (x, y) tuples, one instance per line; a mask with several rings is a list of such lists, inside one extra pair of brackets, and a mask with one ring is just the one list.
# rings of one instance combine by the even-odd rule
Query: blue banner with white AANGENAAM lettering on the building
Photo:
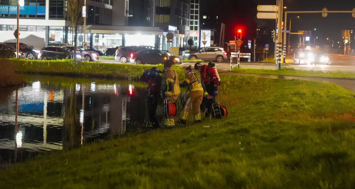
[[(20, 15), (45, 15), (45, 6), (23, 6), (19, 10)], [(16, 5), (0, 5), (1, 15), (16, 15)]]

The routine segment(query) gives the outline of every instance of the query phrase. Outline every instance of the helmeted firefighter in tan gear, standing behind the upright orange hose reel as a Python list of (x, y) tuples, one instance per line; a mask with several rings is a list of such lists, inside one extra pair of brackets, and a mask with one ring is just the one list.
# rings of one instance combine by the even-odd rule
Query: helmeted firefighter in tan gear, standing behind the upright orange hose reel
[[(165, 98), (170, 99), (170, 103), (175, 103), (180, 96), (178, 73), (171, 69), (173, 64), (172, 60), (164, 61), (164, 71), (162, 71), (162, 88)], [(167, 128), (175, 128), (174, 118), (165, 118), (163, 123)]]

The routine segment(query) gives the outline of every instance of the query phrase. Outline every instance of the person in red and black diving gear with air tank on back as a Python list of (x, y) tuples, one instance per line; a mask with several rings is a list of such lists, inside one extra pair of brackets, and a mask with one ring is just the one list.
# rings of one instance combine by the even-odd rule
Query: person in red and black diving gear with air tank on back
[(200, 72), (202, 86), (206, 88), (209, 96), (212, 96), (212, 99), (203, 98), (202, 101), (202, 111), (204, 112), (205, 109), (207, 110), (205, 118), (209, 118), (211, 115), (212, 104), (215, 103), (215, 99), (218, 94), (218, 85), (220, 85), (218, 76), (211, 65), (212, 63), (209, 65), (202, 65), (200, 62), (195, 64), (195, 70)]

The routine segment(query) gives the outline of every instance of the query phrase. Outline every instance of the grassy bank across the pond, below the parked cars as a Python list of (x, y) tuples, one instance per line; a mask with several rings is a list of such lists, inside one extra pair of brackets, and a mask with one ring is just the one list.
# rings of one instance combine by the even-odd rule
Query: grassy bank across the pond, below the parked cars
[[(64, 76), (95, 76), (109, 79), (138, 79), (144, 70), (153, 65), (129, 65), (95, 62), (64, 61), (31, 61), (31, 60), (3, 60), (10, 63), (18, 73), (48, 74)], [(155, 65), (163, 69), (163, 65)], [(173, 66), (180, 77), (184, 76), (182, 67)]]

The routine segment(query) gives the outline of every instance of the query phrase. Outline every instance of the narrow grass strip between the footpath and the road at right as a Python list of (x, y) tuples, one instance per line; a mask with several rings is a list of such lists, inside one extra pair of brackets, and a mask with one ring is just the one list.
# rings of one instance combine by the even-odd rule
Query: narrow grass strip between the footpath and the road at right
[(313, 71), (313, 70), (297, 70), (294, 68), (285, 68), (282, 70), (273, 69), (246, 69), (246, 68), (233, 68), (234, 73), (245, 74), (260, 74), (260, 75), (283, 75), (283, 76), (300, 76), (311, 78), (339, 78), (339, 79), (355, 79), (355, 74), (351, 72), (342, 71)]

